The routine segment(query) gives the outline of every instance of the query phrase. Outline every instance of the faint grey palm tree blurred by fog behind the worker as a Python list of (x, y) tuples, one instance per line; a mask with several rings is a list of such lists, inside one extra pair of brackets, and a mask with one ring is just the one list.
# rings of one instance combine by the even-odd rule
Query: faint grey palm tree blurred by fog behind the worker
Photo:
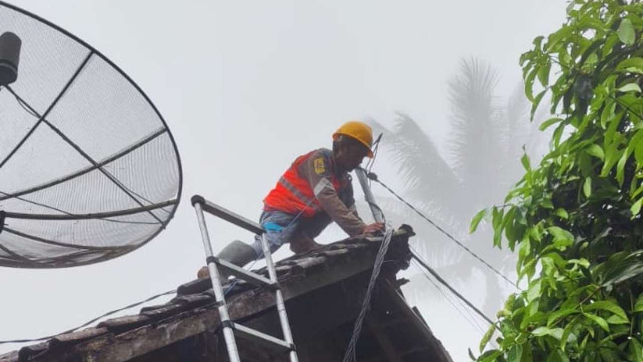
[[(488, 65), (471, 59), (460, 63), (460, 73), (448, 84), (451, 103), (451, 135), (448, 155), (440, 155), (419, 124), (409, 115), (397, 113), (394, 126), (385, 128), (376, 120), (370, 124), (385, 136), (387, 155), (394, 160), (405, 186), (404, 196), (437, 224), (451, 231), (458, 240), (496, 269), (509, 269), (514, 259), (490, 247), (493, 237), (488, 227), (473, 236), (467, 234), (473, 215), (493, 204), (502, 204), (509, 187), (521, 175), (523, 145), (528, 153), (541, 148), (538, 130), (529, 122), (527, 100), (522, 88), (516, 88), (507, 105), (494, 95), (498, 74)], [(378, 196), (388, 217), (399, 222), (413, 222), (418, 237), (415, 247), (447, 280), (464, 281), (477, 269), (483, 272), (487, 287), (484, 311), (494, 316), (503, 289), (498, 276), (482, 263), (464, 256), (455, 243), (442, 242), (437, 233), (415, 214), (400, 209), (397, 201)], [(435, 240), (440, 240), (436, 242)], [(420, 280), (421, 278), (417, 278)], [(423, 280), (423, 279), (422, 279)], [(424, 283), (415, 283), (428, 289)]]

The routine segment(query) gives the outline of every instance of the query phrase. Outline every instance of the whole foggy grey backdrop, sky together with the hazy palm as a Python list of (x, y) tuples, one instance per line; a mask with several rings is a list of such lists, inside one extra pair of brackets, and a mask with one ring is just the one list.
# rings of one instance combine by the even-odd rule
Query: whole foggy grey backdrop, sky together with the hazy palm
[[(566, 1), (11, 3), (84, 39), (141, 86), (176, 139), (184, 185), (167, 230), (131, 254), (72, 269), (0, 268), (0, 340), (56, 334), (194, 279), (204, 253), (190, 196), (257, 220), (294, 158), (329, 148), (350, 119), (385, 131), (373, 168), (383, 182), (515, 280), (514, 261), (491, 248), (488, 225), (473, 236), (467, 228), (520, 178), (521, 144), (534, 156), (547, 147), (529, 124), (518, 57), (564, 21)], [(422, 162), (411, 162), (417, 155)], [(384, 189), (373, 190), (395, 227), (415, 228), (413, 247), (495, 319), (515, 289)], [(235, 238), (251, 241), (214, 218), (208, 226), (215, 252)], [(344, 237), (331, 227), (318, 242)], [(454, 361), (468, 360), (467, 347), (477, 354), (486, 322), (417, 267), (400, 276), (411, 280), (403, 288), (409, 303)], [(0, 345), (0, 354), (19, 347)]]

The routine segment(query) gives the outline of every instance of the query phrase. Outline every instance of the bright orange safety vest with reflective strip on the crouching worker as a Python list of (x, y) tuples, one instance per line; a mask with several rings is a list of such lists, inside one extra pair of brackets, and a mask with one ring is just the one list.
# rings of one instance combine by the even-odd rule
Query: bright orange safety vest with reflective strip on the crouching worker
[[(305, 155), (297, 157), (293, 164), (281, 176), (274, 189), (272, 189), (266, 198), (264, 204), (266, 209), (283, 211), (289, 214), (302, 213), (304, 217), (314, 216), (321, 210), (320, 202), (314, 195), (312, 187), (308, 181), (299, 175), (298, 167), (311, 157), (311, 151)], [(335, 191), (340, 193), (342, 183), (332, 172), (332, 186)]]

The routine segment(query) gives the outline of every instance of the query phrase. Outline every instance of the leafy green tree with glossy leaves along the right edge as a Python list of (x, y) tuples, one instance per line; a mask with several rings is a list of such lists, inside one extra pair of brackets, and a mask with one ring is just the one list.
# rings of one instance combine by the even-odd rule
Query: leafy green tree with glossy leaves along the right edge
[(532, 114), (550, 95), (541, 128), (554, 132), (489, 212), (529, 289), (506, 301), (499, 348), (480, 361), (643, 361), (643, 5), (575, 0), (567, 15), (520, 58)]

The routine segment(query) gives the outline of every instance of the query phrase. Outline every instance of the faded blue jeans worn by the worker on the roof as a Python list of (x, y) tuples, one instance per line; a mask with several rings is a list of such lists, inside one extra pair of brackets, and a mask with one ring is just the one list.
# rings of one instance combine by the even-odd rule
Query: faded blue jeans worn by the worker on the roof
[[(331, 224), (331, 218), (327, 213), (317, 213), (312, 217), (297, 217), (297, 214), (284, 213), (283, 211), (263, 211), (259, 218), (259, 224), (266, 231), (266, 241), (270, 252), (277, 251), (284, 243), (290, 243), (293, 236), (296, 238), (315, 238), (321, 231)], [(264, 255), (261, 247), (260, 236), (255, 236), (255, 242), (251, 245), (257, 258)]]

